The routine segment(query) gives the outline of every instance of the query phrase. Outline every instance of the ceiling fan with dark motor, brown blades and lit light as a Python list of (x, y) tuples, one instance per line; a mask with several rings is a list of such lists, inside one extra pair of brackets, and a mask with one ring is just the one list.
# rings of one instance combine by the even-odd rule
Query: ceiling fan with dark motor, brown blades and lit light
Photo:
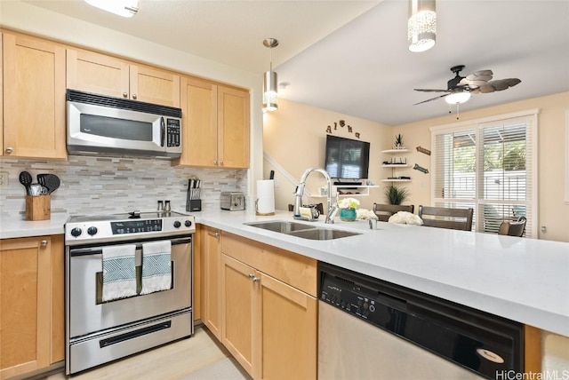
[(468, 76), (461, 76), (460, 73), (463, 69), (464, 65), (451, 67), (451, 71), (455, 76), (446, 83), (446, 90), (413, 89), (414, 91), (422, 92), (445, 92), (443, 95), (423, 100), (419, 103), (413, 104), (413, 106), (441, 98), (445, 98), (448, 104), (461, 104), (469, 100), (471, 94), (502, 91), (509, 87), (514, 87), (517, 83), (522, 82), (517, 78), (497, 79), (495, 81), (491, 81), (493, 77), (492, 70), (479, 70)]

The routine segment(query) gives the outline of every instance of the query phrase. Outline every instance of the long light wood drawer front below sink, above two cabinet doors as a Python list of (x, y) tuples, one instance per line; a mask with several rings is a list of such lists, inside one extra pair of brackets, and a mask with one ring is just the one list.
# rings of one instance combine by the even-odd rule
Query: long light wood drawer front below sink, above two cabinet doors
[(317, 260), (313, 258), (228, 233), (222, 233), (221, 251), (317, 297)]

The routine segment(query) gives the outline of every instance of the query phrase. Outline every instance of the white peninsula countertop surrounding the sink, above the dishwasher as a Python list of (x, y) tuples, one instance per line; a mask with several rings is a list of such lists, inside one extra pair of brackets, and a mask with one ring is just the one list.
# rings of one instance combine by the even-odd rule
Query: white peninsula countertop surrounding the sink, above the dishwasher
[[(367, 221), (322, 227), (362, 233), (313, 241), (244, 223), (293, 221), (290, 212), (192, 213), (196, 222), (420, 290), (513, 321), (569, 336), (569, 243)], [(311, 222), (301, 222), (308, 223)]]

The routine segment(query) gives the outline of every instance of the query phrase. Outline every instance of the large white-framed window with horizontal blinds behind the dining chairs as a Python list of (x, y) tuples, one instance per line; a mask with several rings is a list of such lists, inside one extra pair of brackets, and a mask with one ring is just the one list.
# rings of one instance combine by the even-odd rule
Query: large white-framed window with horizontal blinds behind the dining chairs
[(473, 229), (527, 219), (537, 236), (537, 110), (431, 128), (431, 202), (473, 208)]

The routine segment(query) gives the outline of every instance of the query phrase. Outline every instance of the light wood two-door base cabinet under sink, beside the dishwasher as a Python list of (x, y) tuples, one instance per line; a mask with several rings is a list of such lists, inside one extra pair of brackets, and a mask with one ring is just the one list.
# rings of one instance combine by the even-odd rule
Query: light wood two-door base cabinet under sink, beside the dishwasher
[(316, 289), (316, 260), (233, 234), (221, 245), (222, 344), (254, 379), (316, 379), (317, 298), (301, 290)]

